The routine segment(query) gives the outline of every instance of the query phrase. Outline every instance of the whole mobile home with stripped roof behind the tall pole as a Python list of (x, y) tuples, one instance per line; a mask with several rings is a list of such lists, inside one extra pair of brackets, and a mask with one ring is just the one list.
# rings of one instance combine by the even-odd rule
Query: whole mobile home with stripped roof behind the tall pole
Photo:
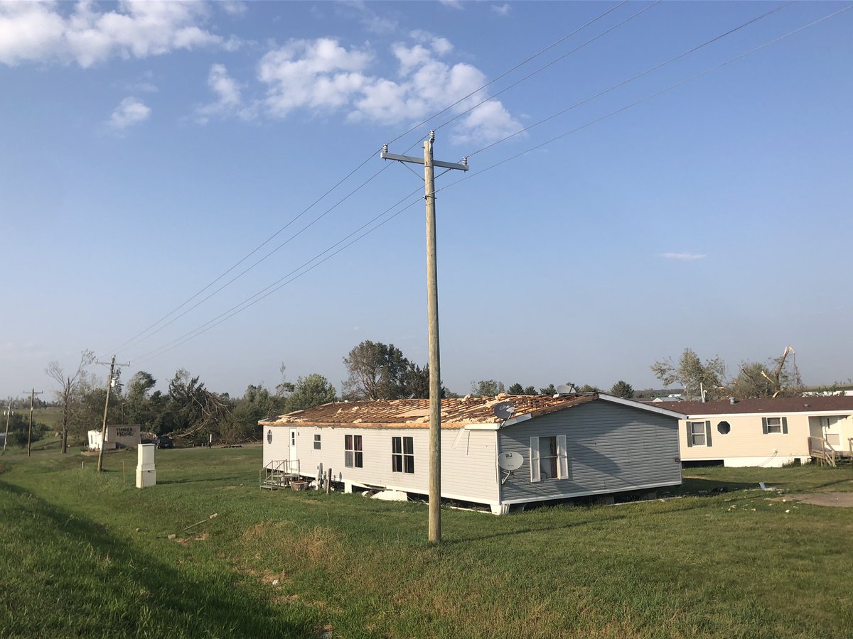
[[(508, 402), (511, 417), (493, 408)], [(428, 492), (428, 400), (337, 402), (263, 420), (265, 477)], [(606, 394), (442, 400), (442, 498), (512, 506), (681, 484), (679, 413)]]

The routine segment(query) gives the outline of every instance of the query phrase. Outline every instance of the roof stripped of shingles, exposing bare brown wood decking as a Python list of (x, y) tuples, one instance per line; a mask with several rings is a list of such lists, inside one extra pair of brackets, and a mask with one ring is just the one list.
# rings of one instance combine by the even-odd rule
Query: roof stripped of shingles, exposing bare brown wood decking
[[(441, 427), (461, 429), (473, 424), (501, 423), (492, 407), (508, 401), (513, 417), (538, 417), (598, 399), (595, 393), (571, 395), (508, 395), (441, 400)], [(339, 401), (258, 422), (262, 426), (353, 426), (362, 428), (429, 428), (429, 400)]]

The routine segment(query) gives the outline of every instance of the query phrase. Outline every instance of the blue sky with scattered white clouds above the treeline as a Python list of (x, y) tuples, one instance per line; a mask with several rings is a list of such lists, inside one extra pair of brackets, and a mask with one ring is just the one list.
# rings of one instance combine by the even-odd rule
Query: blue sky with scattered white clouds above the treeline
[[(364, 339), (425, 363), (423, 204), (405, 199), (422, 182), (378, 157), (423, 120), (392, 153), (422, 153), (432, 126), (436, 158), (471, 156), (438, 180), (450, 389), (647, 388), (649, 365), (685, 347), (734, 377), (788, 344), (806, 383), (846, 380), (853, 10), (486, 170), (845, 6), (0, 4), (0, 396), (50, 391), (48, 362), (73, 368), (84, 348), (160, 388), (183, 367), (231, 394), (275, 386), (281, 362), (339, 389)], [(401, 199), (414, 204), (165, 350)], [(125, 344), (295, 216), (168, 320), (289, 239), (280, 250)]]

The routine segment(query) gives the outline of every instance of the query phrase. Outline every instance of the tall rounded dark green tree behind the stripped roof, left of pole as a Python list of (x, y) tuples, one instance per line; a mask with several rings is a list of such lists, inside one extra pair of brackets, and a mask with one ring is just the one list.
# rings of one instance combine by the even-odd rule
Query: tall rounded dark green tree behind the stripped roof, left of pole
[(398, 400), (407, 397), (410, 362), (393, 344), (365, 340), (344, 358), (350, 373), (344, 383), (347, 397), (361, 400)]

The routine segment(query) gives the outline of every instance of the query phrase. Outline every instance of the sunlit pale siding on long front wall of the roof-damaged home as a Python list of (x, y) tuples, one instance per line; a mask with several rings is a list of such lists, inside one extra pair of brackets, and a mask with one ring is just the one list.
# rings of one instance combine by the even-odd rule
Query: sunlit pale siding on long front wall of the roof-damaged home
[[(289, 432), (296, 429), (299, 468), (302, 475), (316, 477), (332, 469), (335, 481), (383, 486), (393, 490), (429, 491), (428, 429), (370, 429), (315, 426), (265, 426), (264, 463), (287, 459)], [(267, 442), (272, 431), (273, 441)], [(314, 435), (320, 435), (320, 450), (314, 448)], [(362, 435), (363, 468), (344, 466), (344, 436)], [(458, 438), (457, 438), (457, 435)], [(412, 437), (415, 473), (392, 472), (392, 437)], [(444, 498), (476, 503), (496, 503), (497, 437), (491, 430), (443, 430), (441, 433), (441, 494)]]

